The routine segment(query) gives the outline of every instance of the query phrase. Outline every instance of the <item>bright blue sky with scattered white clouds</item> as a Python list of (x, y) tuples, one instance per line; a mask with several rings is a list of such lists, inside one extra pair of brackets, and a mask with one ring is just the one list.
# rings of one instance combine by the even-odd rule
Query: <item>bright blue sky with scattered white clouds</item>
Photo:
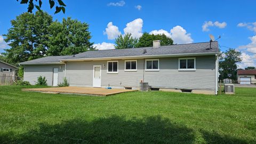
[[(209, 41), (209, 34), (218, 39), (221, 51), (233, 47), (243, 53), (239, 67), (255, 66), (256, 1), (67, 1), (66, 13), (54, 14), (47, 0), (42, 9), (53, 19), (71, 17), (90, 25), (91, 42), (98, 49), (113, 48), (118, 34), (143, 32), (164, 33), (174, 43)], [(139, 9), (140, 8), (140, 9)], [(3, 34), (11, 27), (10, 20), (27, 11), (27, 5), (16, 0), (0, 5), (0, 52), (8, 48)], [(204, 26), (204, 29), (203, 29)]]

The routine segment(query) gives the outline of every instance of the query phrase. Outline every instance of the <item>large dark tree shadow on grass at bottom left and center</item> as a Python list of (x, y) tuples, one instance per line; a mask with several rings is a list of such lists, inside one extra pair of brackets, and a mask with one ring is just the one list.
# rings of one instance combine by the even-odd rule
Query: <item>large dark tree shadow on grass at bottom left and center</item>
[(79, 119), (49, 125), (21, 135), (0, 135), (0, 143), (192, 143), (193, 130), (160, 116), (126, 120), (112, 116), (92, 122)]

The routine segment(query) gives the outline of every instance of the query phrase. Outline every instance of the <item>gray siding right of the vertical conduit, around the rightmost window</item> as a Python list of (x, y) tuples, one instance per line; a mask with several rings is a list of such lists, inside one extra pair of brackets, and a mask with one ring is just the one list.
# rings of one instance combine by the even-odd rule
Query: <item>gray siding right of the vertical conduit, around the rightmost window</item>
[(215, 56), (196, 57), (195, 71), (179, 71), (178, 58), (159, 60), (159, 71), (145, 71), (145, 82), (149, 85), (171, 89), (215, 89)]

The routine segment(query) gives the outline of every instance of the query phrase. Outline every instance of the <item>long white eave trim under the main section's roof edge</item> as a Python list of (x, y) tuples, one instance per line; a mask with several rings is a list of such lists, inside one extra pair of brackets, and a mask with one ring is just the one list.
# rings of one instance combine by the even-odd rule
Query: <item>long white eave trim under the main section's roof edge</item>
[(164, 57), (187, 57), (200, 55), (215, 55), (220, 52), (204, 52), (204, 53), (182, 53), (182, 54), (159, 54), (159, 55), (136, 55), (124, 57), (103, 57), (103, 58), (80, 58), (80, 59), (61, 59), (64, 61), (86, 61), (86, 60), (118, 60), (118, 59), (143, 59), (143, 58), (164, 58)]

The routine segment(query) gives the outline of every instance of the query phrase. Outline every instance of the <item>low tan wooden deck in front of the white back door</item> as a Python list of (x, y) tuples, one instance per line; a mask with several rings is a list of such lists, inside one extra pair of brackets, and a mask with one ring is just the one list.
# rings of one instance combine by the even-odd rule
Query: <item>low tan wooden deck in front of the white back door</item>
[(84, 95), (95, 95), (95, 96), (107, 96), (111, 94), (131, 92), (137, 90), (125, 90), (125, 89), (104, 89), (96, 87), (48, 87), (48, 88), (37, 88), (37, 89), (22, 89), (22, 91), (41, 92), (41, 93), (52, 93), (52, 94), (84, 94)]

